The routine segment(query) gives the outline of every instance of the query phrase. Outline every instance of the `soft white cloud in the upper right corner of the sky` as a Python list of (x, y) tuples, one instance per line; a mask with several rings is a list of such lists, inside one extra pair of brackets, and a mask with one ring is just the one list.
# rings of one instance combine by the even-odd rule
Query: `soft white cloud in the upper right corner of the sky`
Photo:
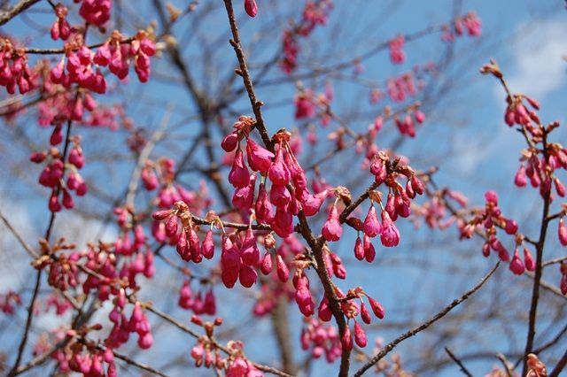
[[(517, 34), (520, 37), (512, 47), (512, 63), (516, 67), (508, 75), (509, 86), (514, 92), (543, 100), (567, 79), (567, 64), (562, 58), (567, 54), (567, 24), (563, 19), (535, 22), (530, 27), (518, 27)], [(501, 97), (501, 88), (498, 96)]]

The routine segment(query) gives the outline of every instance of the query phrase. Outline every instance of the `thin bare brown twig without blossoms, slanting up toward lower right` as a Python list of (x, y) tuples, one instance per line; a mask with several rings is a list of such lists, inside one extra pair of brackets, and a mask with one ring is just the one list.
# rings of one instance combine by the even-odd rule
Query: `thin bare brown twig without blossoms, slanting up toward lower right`
[(442, 319), (443, 317), (445, 317), (448, 312), (451, 312), (451, 310), (454, 309), (455, 306), (461, 304), (464, 300), (469, 298), (469, 296), (471, 296), (473, 293), (478, 291), (478, 289), (480, 289), (485, 284), (485, 282), (493, 275), (493, 273), (496, 271), (496, 269), (498, 269), (499, 266), (500, 266), (500, 261), (497, 262), (496, 265), (493, 266), (493, 268), (490, 270), (490, 272), (487, 273), (485, 275), (485, 277), (482, 278), (476, 286), (474, 286), (472, 289), (466, 291), (464, 293), (464, 295), (455, 299), (451, 304), (448, 304), (445, 308), (443, 308), (443, 310), (441, 310), (440, 312), (435, 314), (433, 317), (431, 317), (431, 319), (428, 319), (425, 322), (423, 322), (423, 324), (421, 324), (420, 326), (409, 330), (408, 332), (398, 336), (392, 342), (389, 342), (386, 346), (384, 346), (384, 348), (382, 348), (382, 350), (380, 350), (377, 353), (377, 355), (375, 355), (373, 358), (371, 358), (369, 360), (369, 362), (367, 362), (358, 371), (356, 371), (356, 373), (354, 373), (354, 377), (359, 377), (359, 376), (362, 375), (362, 373), (368, 371), (369, 368), (372, 367), (372, 365), (375, 365), (378, 361), (380, 361), (382, 358), (384, 358), (388, 353), (390, 353), (390, 351), (392, 351), (398, 344), (400, 344), (400, 342), (403, 342), (406, 339), (408, 339), (409, 337), (416, 335), (417, 333), (423, 331), (427, 327), (430, 327), (433, 323), (435, 323), (439, 319)]

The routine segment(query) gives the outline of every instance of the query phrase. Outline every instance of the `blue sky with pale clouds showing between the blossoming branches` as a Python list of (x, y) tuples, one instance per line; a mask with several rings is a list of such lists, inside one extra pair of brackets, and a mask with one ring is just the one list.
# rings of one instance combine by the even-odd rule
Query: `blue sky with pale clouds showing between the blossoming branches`
[[(258, 3), (260, 12), (257, 19), (239, 18), (243, 20), (242, 32), (245, 44), (247, 44), (247, 41), (253, 41), (254, 38), (258, 37), (255, 34), (258, 32), (258, 25), (266, 22), (267, 19), (275, 19), (274, 15), (262, 12), (265, 8), (263, 8), (264, 4), (261, 0)], [(297, 3), (303, 4), (299, 1)], [(337, 8), (332, 12), (327, 28), (342, 27), (341, 32), (336, 35), (336, 39), (333, 39), (333, 43), (331, 43), (326, 34), (329, 30), (327, 28), (318, 29), (314, 35), (315, 42), (307, 42), (302, 46), (303, 58), (321, 58), (325, 54), (338, 54), (341, 57), (350, 58), (368, 50), (369, 45), (377, 39), (384, 40), (400, 32), (412, 33), (429, 25), (446, 22), (453, 12), (453, 2), (448, 0), (426, 2), (412, 0), (402, 2), (400, 5), (394, 1), (384, 2), (384, 4), (387, 4), (384, 5), (381, 2), (368, 0), (353, 2), (337, 0), (336, 3)], [(392, 12), (385, 12), (386, 9), (391, 9)], [(513, 186), (519, 150), (524, 145), (519, 135), (503, 123), (505, 107), (503, 90), (493, 78), (480, 75), (478, 68), (485, 64), (489, 58), (496, 58), (502, 71), (508, 77), (510, 88), (513, 91), (522, 91), (540, 101), (542, 107), (540, 114), (544, 122), (557, 119), (564, 123), (566, 120), (564, 98), (567, 95), (565, 86), (567, 65), (562, 57), (563, 54), (567, 55), (567, 45), (564, 42), (564, 35), (567, 35), (567, 12), (563, 9), (563, 2), (556, 0), (539, 2), (528, 0), (514, 2), (462, 1), (462, 11), (469, 10), (475, 10), (479, 18), (482, 19), (483, 35), (479, 40), (473, 40), (469, 37), (462, 37), (457, 40), (454, 51), (456, 57), (454, 65), (450, 65), (447, 73), (442, 73), (439, 79), (440, 81), (451, 80), (454, 88), (447, 96), (442, 98), (442, 101), (439, 101), (439, 104), (432, 104), (432, 106), (434, 105), (433, 110), (427, 114), (429, 119), (423, 129), (418, 131), (418, 137), (416, 140), (403, 144), (401, 152), (408, 154), (410, 158), (415, 157), (416, 159), (412, 160), (412, 164), (415, 164), (418, 169), (425, 169), (429, 165), (439, 165), (438, 183), (461, 190), (467, 196), (470, 196), (473, 204), (483, 203), (482, 196), (486, 189), (496, 189), (501, 194), (503, 212), (525, 219), (526, 221), (521, 223), (521, 227), (529, 231), (533, 221), (531, 219), (532, 207), (537, 204), (537, 195), (533, 195), (529, 189), (518, 191)], [(144, 12), (149, 11), (143, 5), (140, 14), (144, 14)], [(38, 16), (36, 20), (42, 21), (43, 18)], [(280, 19), (280, 23), (277, 25), (281, 26), (283, 23), (281, 21)], [(206, 22), (210, 23), (210, 26), (206, 28), (204, 35), (196, 35), (189, 39), (190, 43), (193, 44), (188, 48), (188, 54), (198, 52), (198, 42), (195, 41), (198, 41), (199, 37), (214, 40), (221, 32), (224, 33), (221, 27), (226, 27), (226, 21), (222, 12), (214, 12), (210, 19), (206, 19)], [(6, 27), (6, 31), (19, 34), (23, 32), (23, 27), (25, 27), (25, 24), (17, 20)], [(181, 31), (181, 27), (177, 31)], [(219, 38), (219, 41), (225, 43), (226, 39)], [(42, 42), (44, 42), (44, 39), (41, 37), (33, 39), (34, 45), (42, 45)], [(266, 61), (276, 48), (278, 48), (278, 45), (273, 44), (266, 49), (262, 49), (260, 46), (260, 48), (252, 50), (252, 62)], [(387, 51), (384, 51), (364, 64), (365, 70), (362, 75), (372, 80), (384, 81), (392, 74), (411, 69), (414, 64), (423, 64), (431, 59), (438, 58), (444, 49), (443, 43), (439, 42), (439, 35), (432, 35), (418, 42), (409, 42), (405, 49), (408, 55), (406, 64), (401, 66), (390, 65)], [(234, 56), (228, 44), (225, 43), (225, 46), (219, 51), (220, 62), (234, 65)], [(324, 62), (323, 58), (321, 59)], [(169, 73), (167, 65), (163, 63), (158, 62), (154, 66), (156, 71), (160, 73)], [(195, 69), (201, 70), (203, 65), (196, 61)], [(271, 77), (282, 77), (282, 73), (276, 70)], [(218, 88), (221, 85), (217, 81), (204, 85)], [(356, 87), (341, 81), (336, 82), (337, 100), (334, 104), (337, 104), (339, 113), (348, 113), (359, 105), (361, 109), (370, 109), (366, 88)], [(306, 81), (305, 83), (313, 85), (317, 90), (322, 90), (324, 81)], [(128, 115), (136, 119), (138, 124), (149, 129), (157, 127), (167, 103), (175, 105), (176, 112), (172, 124), (187, 119), (194, 112), (194, 109), (190, 108), (190, 99), (183, 88), (172, 87), (163, 83), (163, 81), (156, 81), (156, 83), (144, 87), (138, 85), (136, 79), (133, 79), (131, 85), (124, 91), (130, 98), (133, 98), (127, 104)], [(267, 104), (265, 113), (270, 131), (275, 132), (280, 127), (291, 128), (295, 124), (290, 102), (294, 92), (292, 84), (283, 85), (281, 88), (259, 88), (260, 99)], [(284, 105), (275, 105), (280, 103)], [(235, 105), (235, 109), (249, 114), (247, 99), (241, 98)], [(372, 119), (373, 117), (354, 120), (352, 127), (357, 130), (364, 129)], [(35, 125), (32, 124), (29, 127), (35, 127)], [(392, 124), (387, 127), (392, 127)], [(168, 131), (174, 136), (161, 149), (158, 149), (157, 153), (175, 155), (175, 151), (181, 148), (178, 142), (183, 140), (183, 137), (195, 135), (197, 123), (187, 120), (182, 123), (181, 127), (169, 127)], [(39, 135), (40, 139), (38, 140), (46, 140), (48, 137), (44, 131), (43, 133), (37, 132), (34, 128), (27, 129), (27, 132), (30, 135)], [(85, 132), (85, 135), (95, 135), (91, 131), (82, 132)], [(120, 148), (123, 133), (118, 133), (118, 135), (110, 134), (108, 131), (102, 131), (102, 133), (105, 135), (106, 142)], [(556, 133), (559, 141), (565, 140), (565, 135), (565, 131), (561, 129)], [(215, 136), (219, 138), (221, 135)], [(384, 145), (391, 142), (394, 136), (395, 133), (385, 133)], [(324, 137), (324, 135), (321, 135), (321, 137)], [(93, 153), (97, 150), (100, 150), (100, 148), (92, 147)], [(455, 151), (458, 154), (455, 155)], [(216, 150), (216, 153), (221, 156), (220, 150)], [(446, 153), (451, 158), (446, 158)], [(308, 153), (306, 153), (306, 156), (309, 156)], [(198, 158), (204, 158), (204, 155), (201, 154)], [(131, 166), (131, 162), (124, 161), (113, 172), (108, 173), (108, 166), (101, 164), (90, 167), (87, 172), (91, 177), (96, 177), (100, 173), (108, 173), (109, 181), (120, 185), (128, 180)], [(330, 173), (329, 178), (331, 184), (338, 184), (342, 165), (332, 162), (326, 166), (329, 171), (338, 173)], [(35, 180), (37, 173), (39, 172), (36, 170), (29, 172), (32, 181)], [(186, 181), (194, 182), (192, 178), (192, 176), (189, 176)], [(364, 182), (367, 181), (368, 177)], [(353, 193), (360, 192), (366, 185), (367, 183), (364, 183), (361, 187), (353, 188)], [(13, 213), (14, 219), (19, 219), (17, 222), (22, 225), (32, 223), (31, 227), (27, 227), (27, 232), (30, 237), (33, 237), (35, 232), (41, 232), (47, 219), (47, 214), (44, 211), (47, 194), (44, 190), (37, 191), (45, 197), (23, 204), (23, 200), (30, 195), (30, 192), (35, 192), (34, 188), (30, 188), (26, 181), (21, 181), (12, 186), (6, 183), (1, 184), (0, 209), (3, 212)], [(90, 204), (90, 207), (96, 212), (95, 204)], [(71, 217), (71, 215), (67, 216)], [(61, 224), (64, 223), (65, 220), (61, 219)], [(98, 228), (96, 227), (99, 225), (97, 222), (93, 224), (83, 225), (82, 228)], [(68, 229), (63, 226), (58, 228), (61, 233), (66, 230)], [(555, 229), (553, 232), (555, 232)], [(85, 233), (83, 232), (84, 240), (82, 241), (89, 239), (89, 234)], [(111, 230), (109, 235), (112, 234), (113, 231)], [(402, 228), (403, 239), (399, 249), (384, 250), (378, 248), (377, 261), (371, 268), (353, 261), (354, 235), (347, 235), (345, 241), (337, 246), (339, 255), (349, 265), (349, 277), (344, 287), (348, 288), (359, 284), (365, 288), (368, 287), (369, 292), (380, 298), (386, 307), (388, 316), (384, 321), (384, 327), (378, 326), (376, 331), (372, 331), (369, 339), (374, 336), (383, 336), (387, 342), (400, 332), (400, 328), (389, 327), (391, 324), (402, 319), (418, 320), (431, 316), (436, 308), (439, 309), (443, 304), (448, 304), (462, 291), (473, 286), (495, 262), (493, 258), (485, 260), (480, 257), (480, 243), (478, 241), (454, 244), (452, 242), (456, 238), (454, 229), (440, 235), (420, 231), (411, 241), (409, 239), (413, 237), (410, 237), (410, 234), (413, 235), (413, 232), (409, 225)], [(555, 235), (555, 233), (552, 233), (552, 235)], [(436, 245), (441, 246), (437, 248)], [(556, 242), (552, 243), (551, 253), (561, 252), (555, 246)], [(10, 261), (10, 263), (13, 264), (8, 263), (6, 256), (2, 265), (0, 265), (0, 271), (4, 270), (4, 273), (0, 273), (0, 276), (4, 276), (4, 278), (0, 278), (0, 290), (2, 291), (13, 288), (12, 277), (17, 277), (19, 283), (25, 284), (26, 281), (26, 275), (19, 273), (20, 270), (17, 268), (18, 263), (25, 265), (26, 260)], [(501, 269), (505, 270), (506, 268)], [(7, 271), (10, 271), (10, 273)], [(461, 279), (458, 281), (452, 280), (454, 278), (452, 272), (454, 271), (459, 273)], [(173, 289), (172, 292), (176, 293), (176, 289), (180, 285), (179, 277), (168, 277), (167, 280), (159, 281), (158, 286), (163, 289)], [(477, 310), (482, 304), (491, 303), (494, 301), (494, 297), (491, 295), (498, 291), (500, 284), (515, 286), (516, 281), (514, 279), (516, 278), (508, 271), (501, 271), (498, 279), (495, 279), (491, 283), (492, 285), (489, 284), (486, 287), (485, 296), (473, 303), (475, 306), (472, 307)], [(549, 279), (555, 279), (551, 280), (555, 283), (558, 281), (556, 276)], [(219, 305), (221, 312), (234, 320), (234, 323), (246, 323), (245, 318), (248, 312), (245, 310), (234, 311), (230, 305), (235, 303), (229, 293), (223, 289), (217, 289), (216, 292), (220, 300), (227, 300), (226, 302), (229, 303), (227, 306)], [(526, 297), (522, 289), (517, 289), (517, 291), (511, 293), (511, 296), (517, 297), (519, 300), (525, 300)], [(247, 297), (245, 300), (252, 303), (251, 297)], [(503, 299), (502, 302), (504, 302)], [(297, 324), (299, 313), (293, 305), (291, 306), (292, 323)], [(422, 308), (423, 311), (417, 311), (416, 308)], [(505, 311), (505, 306), (501, 310)], [(171, 311), (179, 318), (187, 318), (187, 313), (182, 313), (173, 308)], [(55, 319), (48, 317), (42, 323), (42, 326), (49, 327), (52, 324), (50, 320)], [(273, 363), (276, 359), (276, 352), (273, 350), (275, 345), (273, 339), (271, 339), (271, 327), (269, 327), (268, 321), (265, 319), (254, 320), (252, 324), (241, 328), (242, 330), (237, 332), (237, 335), (247, 337), (250, 335), (250, 329), (253, 328), (255, 335), (263, 339), (261, 342), (248, 342), (246, 345), (247, 355), (261, 362)], [(475, 332), (475, 329), (467, 328), (466, 325), (462, 325), (462, 330), (473, 335)], [(485, 350), (500, 350), (502, 352), (523, 347), (524, 327), (511, 328), (511, 331), (517, 332), (517, 344), (506, 342), (500, 332), (501, 324), (497, 322), (487, 322), (486, 327), (482, 330), (478, 332), (485, 335), (482, 339), (484, 343), (475, 340), (475, 342), (469, 344), (470, 350), (474, 350), (475, 345), (482, 347), (483, 344)], [(169, 327), (163, 327), (160, 331), (164, 331), (164, 338), (170, 339), (170, 344), (175, 344), (175, 348), (186, 348), (189, 357), (192, 341), (188, 342), (186, 337), (175, 334)], [(299, 331), (295, 330), (295, 333), (294, 340), (298, 340)], [(10, 335), (4, 335), (4, 337), (9, 338)], [(412, 353), (423, 347), (423, 344), (431, 346), (429, 341), (430, 339), (422, 335), (416, 337), (416, 339), (408, 340), (408, 346), (400, 348), (402, 358), (411, 360)], [(518, 346), (518, 344), (520, 345)], [(469, 351), (469, 349), (462, 348), (461, 338), (455, 338), (453, 342), (451, 336), (448, 336), (447, 344), (438, 346), (438, 356), (443, 355), (442, 346), (444, 345), (455, 347), (454, 351), (457, 354)], [(168, 351), (167, 347), (160, 349), (156, 346), (147, 354), (140, 354), (139, 356), (146, 360), (159, 359)], [(304, 355), (298, 351), (296, 357), (301, 359)], [(494, 363), (486, 361), (470, 363), (470, 369), (475, 375), (487, 373), (492, 365), (496, 364), (496, 360), (493, 361)], [(325, 365), (324, 362), (317, 362), (312, 370), (312, 375), (324, 375), (333, 372), (336, 367), (337, 365)], [(408, 368), (411, 370), (411, 364), (408, 365)], [(436, 373), (435, 375), (451, 376), (455, 375), (456, 371), (456, 367), (450, 367), (444, 369), (443, 373)]]

